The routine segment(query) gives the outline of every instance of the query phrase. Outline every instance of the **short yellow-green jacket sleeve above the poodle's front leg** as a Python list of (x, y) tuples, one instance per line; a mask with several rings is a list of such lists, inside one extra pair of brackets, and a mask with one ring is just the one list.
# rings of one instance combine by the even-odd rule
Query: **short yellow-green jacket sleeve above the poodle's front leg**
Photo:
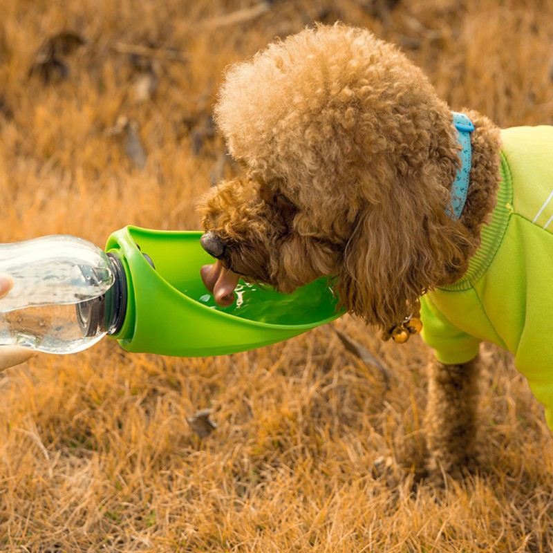
[(420, 299), (422, 339), (447, 365), (466, 363), (478, 355), (480, 340), (460, 330), (435, 306), (428, 295)]

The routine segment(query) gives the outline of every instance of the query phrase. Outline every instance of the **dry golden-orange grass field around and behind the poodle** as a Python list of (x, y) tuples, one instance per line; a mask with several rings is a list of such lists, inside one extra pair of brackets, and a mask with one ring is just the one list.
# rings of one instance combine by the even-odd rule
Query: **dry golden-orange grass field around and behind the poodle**
[[(0, 241), (197, 229), (235, 170), (209, 117), (223, 69), (313, 21), (395, 41), (453, 109), (553, 124), (552, 0), (255, 2), (0, 0)], [(206, 359), (104, 339), (2, 373), (0, 551), (553, 551), (553, 439), (512, 360), (484, 346), (480, 471), (435, 489), (429, 350), (333, 326), (388, 385), (328, 326)]]

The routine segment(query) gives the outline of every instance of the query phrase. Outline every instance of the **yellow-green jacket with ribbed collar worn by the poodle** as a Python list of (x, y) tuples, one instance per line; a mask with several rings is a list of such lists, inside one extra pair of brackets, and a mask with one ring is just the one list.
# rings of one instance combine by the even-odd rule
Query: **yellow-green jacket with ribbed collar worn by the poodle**
[(500, 188), (467, 273), (421, 299), (422, 337), (442, 363), (491, 341), (545, 407), (553, 430), (553, 126), (501, 131)]

